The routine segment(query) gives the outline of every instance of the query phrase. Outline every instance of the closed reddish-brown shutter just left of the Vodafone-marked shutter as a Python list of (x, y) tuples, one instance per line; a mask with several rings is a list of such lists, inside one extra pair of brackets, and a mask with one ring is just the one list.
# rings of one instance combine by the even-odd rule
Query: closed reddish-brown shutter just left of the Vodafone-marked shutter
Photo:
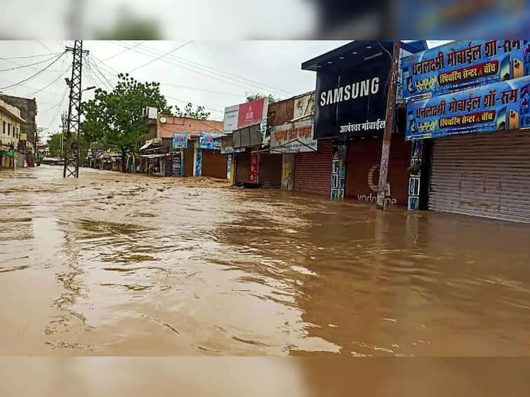
[(295, 155), (295, 190), (329, 195), (331, 146), (331, 140), (319, 140), (317, 152)]

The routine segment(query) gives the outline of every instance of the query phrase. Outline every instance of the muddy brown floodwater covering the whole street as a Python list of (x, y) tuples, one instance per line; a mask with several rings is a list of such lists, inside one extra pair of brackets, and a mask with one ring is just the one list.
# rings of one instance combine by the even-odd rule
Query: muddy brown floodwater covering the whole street
[(0, 170), (0, 354), (522, 356), (530, 227)]

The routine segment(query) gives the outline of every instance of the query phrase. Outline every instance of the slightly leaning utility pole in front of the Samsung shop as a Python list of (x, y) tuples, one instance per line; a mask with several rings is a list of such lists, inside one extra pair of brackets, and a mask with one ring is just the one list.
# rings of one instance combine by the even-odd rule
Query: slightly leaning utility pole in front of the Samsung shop
[(377, 208), (385, 210), (385, 196), (387, 193), (388, 161), (390, 159), (390, 142), (392, 138), (392, 127), (394, 126), (394, 114), (396, 108), (397, 77), (399, 76), (399, 50), (401, 41), (394, 41), (394, 53), (392, 54), (392, 71), (390, 87), (387, 96), (387, 114), (385, 119), (385, 134), (383, 135), (383, 149), (381, 150), (381, 163), (379, 167), (379, 184), (377, 191)]

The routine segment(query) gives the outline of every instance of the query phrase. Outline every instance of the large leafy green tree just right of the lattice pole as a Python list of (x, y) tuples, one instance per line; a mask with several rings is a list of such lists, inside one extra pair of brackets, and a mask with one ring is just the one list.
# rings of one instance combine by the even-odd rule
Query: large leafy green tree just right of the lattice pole
[(122, 163), (125, 152), (135, 150), (138, 137), (149, 131), (142, 116), (145, 107), (157, 107), (162, 114), (171, 115), (166, 98), (160, 93), (160, 84), (141, 83), (128, 74), (119, 74), (112, 91), (98, 88), (93, 100), (81, 105), (85, 120), (81, 133), (86, 142), (99, 141), (107, 147), (121, 150)]

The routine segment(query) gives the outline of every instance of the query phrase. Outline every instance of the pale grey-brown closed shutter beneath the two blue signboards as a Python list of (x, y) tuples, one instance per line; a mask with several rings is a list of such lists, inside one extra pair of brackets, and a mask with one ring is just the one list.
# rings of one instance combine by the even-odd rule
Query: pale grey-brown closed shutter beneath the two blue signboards
[(530, 222), (530, 133), (435, 140), (429, 209)]

